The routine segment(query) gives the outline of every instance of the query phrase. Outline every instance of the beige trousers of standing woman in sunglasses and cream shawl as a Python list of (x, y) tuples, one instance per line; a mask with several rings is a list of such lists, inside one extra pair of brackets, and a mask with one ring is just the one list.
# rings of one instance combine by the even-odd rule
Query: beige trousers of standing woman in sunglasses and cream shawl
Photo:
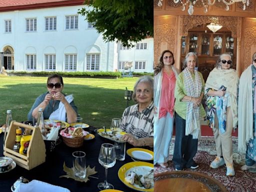
[(233, 118), (232, 111), (230, 107), (226, 109), (226, 130), (221, 134), (218, 128), (218, 118), (215, 113), (214, 118), (215, 125), (212, 128), (217, 156), (223, 156), (225, 163), (233, 163), (233, 151), (232, 151), (232, 128), (233, 128)]

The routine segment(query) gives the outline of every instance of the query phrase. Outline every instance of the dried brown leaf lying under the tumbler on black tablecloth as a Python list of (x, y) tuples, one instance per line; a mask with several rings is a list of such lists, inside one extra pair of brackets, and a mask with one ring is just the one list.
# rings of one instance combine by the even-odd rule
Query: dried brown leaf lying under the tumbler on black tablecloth
[(95, 171), (95, 166), (93, 168), (90, 168), (90, 166), (88, 165), (86, 167), (86, 176), (85, 176), (85, 178), (75, 177), (74, 174), (73, 174), (73, 168), (67, 167), (65, 165), (65, 162), (63, 163), (63, 170), (66, 172), (66, 175), (61, 175), (59, 177), (72, 178), (72, 179), (80, 181), (80, 182), (87, 182), (89, 180), (88, 176), (97, 173), (97, 171)]

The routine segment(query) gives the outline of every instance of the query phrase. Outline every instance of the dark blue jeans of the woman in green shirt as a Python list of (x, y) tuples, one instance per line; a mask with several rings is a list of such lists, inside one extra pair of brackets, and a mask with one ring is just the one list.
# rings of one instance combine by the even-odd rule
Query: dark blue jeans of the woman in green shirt
[(193, 139), (192, 135), (185, 135), (186, 120), (176, 113), (176, 135), (172, 161), (175, 168), (189, 168), (194, 165), (193, 157), (197, 152), (198, 139)]

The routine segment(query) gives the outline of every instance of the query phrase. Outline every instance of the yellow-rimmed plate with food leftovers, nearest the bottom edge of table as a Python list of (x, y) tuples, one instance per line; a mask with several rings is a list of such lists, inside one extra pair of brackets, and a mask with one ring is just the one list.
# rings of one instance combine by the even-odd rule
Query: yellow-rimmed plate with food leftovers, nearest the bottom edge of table
[[(154, 191), (153, 186), (151, 188), (146, 189), (144, 187), (139, 187), (138, 185), (132, 185), (129, 182), (127, 182), (124, 178), (132, 170), (134, 170), (135, 172), (138, 172), (139, 170), (144, 170), (143, 174), (145, 175), (152, 168), (154, 168), (154, 165), (149, 162), (143, 162), (143, 161), (128, 162), (119, 168), (118, 177), (126, 186), (128, 186), (134, 190), (151, 192), (151, 191)], [(153, 180), (152, 180), (152, 184), (153, 184)]]

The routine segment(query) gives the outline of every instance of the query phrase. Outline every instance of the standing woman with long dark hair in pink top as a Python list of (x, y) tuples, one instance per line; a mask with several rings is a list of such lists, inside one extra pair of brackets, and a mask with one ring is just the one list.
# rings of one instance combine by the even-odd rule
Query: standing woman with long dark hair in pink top
[(178, 69), (173, 53), (164, 50), (154, 68), (154, 164), (167, 167), (173, 132), (174, 88)]

